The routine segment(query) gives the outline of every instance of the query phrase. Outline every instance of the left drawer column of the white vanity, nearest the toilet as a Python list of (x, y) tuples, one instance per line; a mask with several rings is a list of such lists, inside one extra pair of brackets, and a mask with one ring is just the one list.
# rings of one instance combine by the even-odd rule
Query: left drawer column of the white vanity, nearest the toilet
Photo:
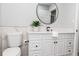
[(28, 54), (30, 56), (41, 56), (41, 35), (40, 34), (30, 34)]

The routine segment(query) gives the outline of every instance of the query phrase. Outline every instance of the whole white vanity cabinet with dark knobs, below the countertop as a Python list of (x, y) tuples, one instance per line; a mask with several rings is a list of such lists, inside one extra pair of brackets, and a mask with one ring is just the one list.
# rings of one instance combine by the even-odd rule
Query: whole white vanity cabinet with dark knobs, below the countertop
[(73, 53), (73, 33), (59, 33), (52, 37), (52, 33), (28, 33), (29, 56), (62, 56)]

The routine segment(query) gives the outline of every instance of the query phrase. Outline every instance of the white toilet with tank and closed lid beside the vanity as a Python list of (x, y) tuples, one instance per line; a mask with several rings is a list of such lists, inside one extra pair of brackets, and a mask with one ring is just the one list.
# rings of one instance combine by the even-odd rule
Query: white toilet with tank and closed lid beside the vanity
[(3, 56), (20, 56), (21, 49), (19, 48), (19, 46), (21, 46), (22, 42), (22, 33), (7, 33), (7, 40), (9, 48), (3, 51)]

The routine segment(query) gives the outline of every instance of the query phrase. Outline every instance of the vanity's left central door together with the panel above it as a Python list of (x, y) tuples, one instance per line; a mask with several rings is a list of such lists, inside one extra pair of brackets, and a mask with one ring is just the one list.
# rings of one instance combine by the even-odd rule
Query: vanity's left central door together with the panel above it
[(51, 33), (42, 35), (42, 56), (51, 56), (54, 55), (54, 39), (52, 39)]

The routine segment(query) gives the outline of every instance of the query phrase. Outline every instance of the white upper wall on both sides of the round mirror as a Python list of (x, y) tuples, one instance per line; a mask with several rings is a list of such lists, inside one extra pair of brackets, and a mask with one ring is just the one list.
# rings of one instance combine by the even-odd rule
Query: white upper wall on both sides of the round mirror
[[(28, 26), (33, 19), (37, 19), (35, 3), (26, 4), (1, 4), (0, 26)], [(74, 3), (57, 3), (59, 15), (57, 21), (52, 24), (56, 28), (73, 28), (75, 20)]]

